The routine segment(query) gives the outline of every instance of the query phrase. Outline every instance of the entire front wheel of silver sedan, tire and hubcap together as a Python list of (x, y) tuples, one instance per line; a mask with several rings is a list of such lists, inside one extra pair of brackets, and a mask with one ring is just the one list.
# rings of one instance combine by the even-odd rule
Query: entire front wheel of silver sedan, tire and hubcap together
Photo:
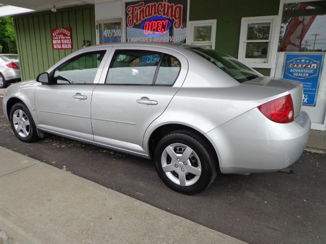
[(16, 103), (11, 108), (10, 124), (19, 140), (29, 143), (39, 139), (33, 117), (24, 104)]

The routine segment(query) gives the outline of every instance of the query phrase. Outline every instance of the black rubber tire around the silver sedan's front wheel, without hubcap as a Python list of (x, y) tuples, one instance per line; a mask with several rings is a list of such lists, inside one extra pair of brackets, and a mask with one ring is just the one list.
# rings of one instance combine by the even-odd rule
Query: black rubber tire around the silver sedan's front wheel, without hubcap
[[(13, 115), (16, 110), (22, 110), (24, 115), (28, 118), (28, 120), (30, 122), (30, 125), (27, 127), (28, 132), (29, 132), (28, 136), (23, 137), (23, 136), (19, 135), (19, 133), (15, 129)], [(16, 103), (16, 104), (14, 104), (14, 106), (12, 106), (12, 108), (10, 110), (10, 124), (11, 124), (11, 128), (12, 128), (13, 132), (15, 133), (16, 137), (19, 140), (26, 142), (26, 143), (31, 143), (31, 142), (34, 142), (39, 139), (32, 114), (30, 113), (30, 110), (23, 103)]]

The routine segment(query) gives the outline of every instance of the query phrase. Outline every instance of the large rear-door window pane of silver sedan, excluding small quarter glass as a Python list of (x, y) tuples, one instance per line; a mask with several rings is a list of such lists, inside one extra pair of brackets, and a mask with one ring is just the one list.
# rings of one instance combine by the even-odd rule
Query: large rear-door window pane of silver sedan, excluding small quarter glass
[(105, 83), (152, 85), (160, 59), (160, 52), (118, 50), (113, 56)]

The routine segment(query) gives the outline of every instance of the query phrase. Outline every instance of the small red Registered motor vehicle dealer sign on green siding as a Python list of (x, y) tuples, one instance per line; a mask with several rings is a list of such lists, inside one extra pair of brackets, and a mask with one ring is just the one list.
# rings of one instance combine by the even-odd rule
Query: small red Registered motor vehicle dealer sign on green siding
[(72, 49), (71, 28), (52, 28), (52, 47), (53, 49)]

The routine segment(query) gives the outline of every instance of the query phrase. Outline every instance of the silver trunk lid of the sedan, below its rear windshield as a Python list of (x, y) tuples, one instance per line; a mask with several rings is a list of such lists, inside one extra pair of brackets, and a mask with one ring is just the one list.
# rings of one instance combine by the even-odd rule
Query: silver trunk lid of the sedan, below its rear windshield
[(250, 81), (243, 82), (242, 84), (271, 87), (280, 89), (284, 92), (288, 92), (291, 95), (293, 102), (294, 117), (297, 117), (300, 114), (303, 99), (303, 86), (301, 82), (272, 77), (259, 77)]

